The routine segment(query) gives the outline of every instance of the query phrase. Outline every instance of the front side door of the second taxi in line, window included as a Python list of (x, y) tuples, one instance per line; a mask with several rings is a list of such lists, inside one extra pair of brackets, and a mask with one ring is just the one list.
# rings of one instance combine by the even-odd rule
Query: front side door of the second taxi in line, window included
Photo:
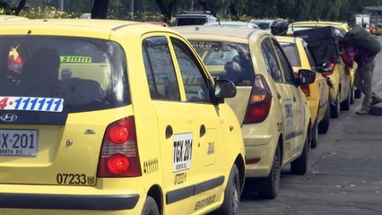
[(296, 157), (304, 147), (304, 126), (305, 126), (305, 109), (306, 99), (300, 87), (297, 87), (294, 78), (294, 72), (291, 64), (288, 61), (282, 51), (280, 44), (273, 39), (274, 49), (280, 60), (280, 66), (282, 67), (282, 76), (284, 87), (288, 89), (288, 93), (291, 97), (291, 134), (288, 138), (291, 138), (292, 157)]

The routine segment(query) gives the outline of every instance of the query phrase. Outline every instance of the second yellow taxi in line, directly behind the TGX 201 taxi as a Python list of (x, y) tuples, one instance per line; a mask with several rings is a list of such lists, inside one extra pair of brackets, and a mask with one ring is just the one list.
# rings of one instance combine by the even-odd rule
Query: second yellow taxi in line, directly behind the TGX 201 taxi
[(230, 79), (238, 93), (228, 104), (242, 126), (246, 176), (258, 193), (275, 198), (281, 169), (304, 175), (308, 168), (310, 112), (299, 88), (315, 73), (300, 69), (297, 78), (282, 47), (265, 30), (229, 26), (175, 27), (195, 47), (215, 80)]

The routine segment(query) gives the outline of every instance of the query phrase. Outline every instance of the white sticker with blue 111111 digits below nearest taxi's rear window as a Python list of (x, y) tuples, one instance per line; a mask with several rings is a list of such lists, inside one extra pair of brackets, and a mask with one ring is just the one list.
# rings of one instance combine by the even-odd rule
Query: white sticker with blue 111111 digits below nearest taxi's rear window
[(64, 99), (39, 97), (0, 97), (0, 109), (62, 112)]

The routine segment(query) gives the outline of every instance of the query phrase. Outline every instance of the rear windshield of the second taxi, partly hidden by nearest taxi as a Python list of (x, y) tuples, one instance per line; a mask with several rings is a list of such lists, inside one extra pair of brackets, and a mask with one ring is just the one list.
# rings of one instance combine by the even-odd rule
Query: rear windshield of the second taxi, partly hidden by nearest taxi
[(247, 44), (190, 40), (214, 79), (226, 79), (237, 86), (252, 86), (255, 78)]

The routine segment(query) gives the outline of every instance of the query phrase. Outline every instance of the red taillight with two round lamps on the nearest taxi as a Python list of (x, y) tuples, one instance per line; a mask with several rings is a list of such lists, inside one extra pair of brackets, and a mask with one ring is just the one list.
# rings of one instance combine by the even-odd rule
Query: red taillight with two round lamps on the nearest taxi
[(112, 123), (106, 129), (97, 176), (142, 176), (134, 116)]

